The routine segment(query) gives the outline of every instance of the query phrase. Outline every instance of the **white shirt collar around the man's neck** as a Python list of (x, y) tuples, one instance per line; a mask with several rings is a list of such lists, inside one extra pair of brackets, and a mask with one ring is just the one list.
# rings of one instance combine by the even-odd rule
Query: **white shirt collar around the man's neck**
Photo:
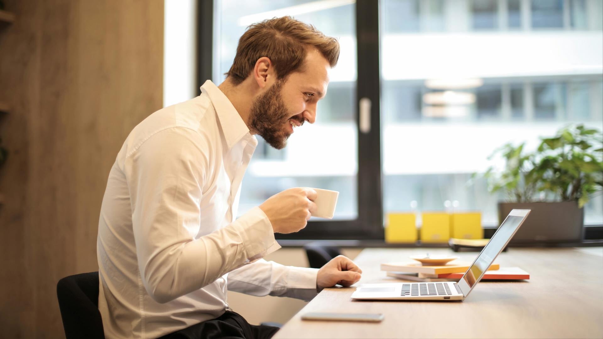
[(209, 100), (212, 101), (213, 108), (222, 126), (224, 138), (228, 148), (232, 148), (237, 142), (241, 141), (245, 135), (249, 134), (249, 128), (239, 115), (239, 112), (232, 106), (232, 103), (224, 93), (212, 83), (211, 80), (205, 81), (201, 86), (201, 92), (207, 93)]

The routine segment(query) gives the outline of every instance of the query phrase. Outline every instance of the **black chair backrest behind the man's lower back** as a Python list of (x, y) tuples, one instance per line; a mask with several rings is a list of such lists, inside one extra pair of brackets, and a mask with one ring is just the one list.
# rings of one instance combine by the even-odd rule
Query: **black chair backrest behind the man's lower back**
[(67, 339), (105, 337), (103, 319), (98, 311), (98, 272), (58, 280), (57, 297)]

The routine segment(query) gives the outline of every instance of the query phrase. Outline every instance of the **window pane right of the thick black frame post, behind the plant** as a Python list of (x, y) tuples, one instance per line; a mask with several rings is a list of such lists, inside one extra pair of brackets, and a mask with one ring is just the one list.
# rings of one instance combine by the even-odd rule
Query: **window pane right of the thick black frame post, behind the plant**
[[(421, 3), (380, 2), (384, 212), (452, 206), (495, 225), (504, 196), (470, 180), (494, 149), (603, 125), (601, 2), (444, 1), (446, 30), (398, 24), (396, 10), (418, 8), (405, 15), (422, 27)], [(585, 212), (586, 224), (603, 223), (601, 195)]]

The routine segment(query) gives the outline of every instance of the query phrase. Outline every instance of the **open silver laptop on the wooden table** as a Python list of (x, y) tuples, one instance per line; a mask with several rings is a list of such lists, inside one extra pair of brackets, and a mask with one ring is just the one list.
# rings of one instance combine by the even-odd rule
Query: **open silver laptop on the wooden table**
[(409, 282), (363, 284), (356, 288), (356, 300), (463, 300), (484, 276), (484, 272), (507, 246), (531, 210), (514, 209), (500, 224), (488, 244), (459, 282)]

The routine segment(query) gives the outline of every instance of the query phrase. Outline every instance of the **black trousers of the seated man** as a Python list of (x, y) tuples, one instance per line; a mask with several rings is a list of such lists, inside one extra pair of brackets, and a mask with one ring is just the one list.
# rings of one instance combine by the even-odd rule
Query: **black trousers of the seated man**
[(226, 311), (218, 318), (198, 323), (159, 339), (270, 339), (279, 328), (265, 325), (250, 325), (236, 312)]

